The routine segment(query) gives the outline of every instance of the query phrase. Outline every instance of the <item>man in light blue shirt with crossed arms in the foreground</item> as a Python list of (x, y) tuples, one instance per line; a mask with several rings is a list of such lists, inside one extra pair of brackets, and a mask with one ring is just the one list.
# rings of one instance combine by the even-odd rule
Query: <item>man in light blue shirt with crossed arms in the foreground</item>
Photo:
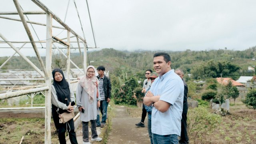
[(151, 131), (154, 144), (178, 144), (181, 130), (184, 84), (171, 70), (169, 54), (154, 54), (156, 78), (143, 101), (152, 108)]

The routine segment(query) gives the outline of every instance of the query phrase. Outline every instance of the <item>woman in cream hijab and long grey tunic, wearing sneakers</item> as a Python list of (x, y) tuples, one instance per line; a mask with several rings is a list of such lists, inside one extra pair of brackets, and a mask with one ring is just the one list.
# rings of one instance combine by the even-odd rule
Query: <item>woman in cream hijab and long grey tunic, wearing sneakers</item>
[[(82, 77), (76, 89), (76, 104), (80, 111), (82, 120), (83, 144), (89, 142), (88, 122), (91, 122), (92, 139), (91, 141), (101, 141), (96, 131), (97, 107), (100, 107), (100, 99), (97, 98), (98, 78), (95, 77), (94, 66), (88, 66), (86, 75)], [(99, 93), (99, 91), (98, 91)]]

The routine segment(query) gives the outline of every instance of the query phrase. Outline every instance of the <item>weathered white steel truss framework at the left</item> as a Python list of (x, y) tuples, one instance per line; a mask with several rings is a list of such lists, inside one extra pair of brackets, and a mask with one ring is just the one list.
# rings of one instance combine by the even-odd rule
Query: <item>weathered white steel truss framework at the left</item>
[[(84, 70), (86, 68), (87, 44), (86, 44), (86, 40), (84, 38), (79, 36), (66, 23), (64, 23), (62, 20), (60, 20), (60, 18), (58, 18), (56, 16), (56, 14), (54, 14), (49, 8), (47, 8), (46, 5), (44, 5), (42, 2), (40, 2), (40, 0), (31, 0), (31, 1), (34, 2), (34, 4), (36, 4), (39, 8), (41, 8), (42, 11), (26, 11), (25, 12), (20, 7), (18, 0), (13, 0), (14, 5), (17, 9), (17, 12), (0, 12), (0, 15), (11, 15), (11, 14), (17, 15), (18, 14), (20, 16), (20, 19), (14, 19), (14, 18), (9, 18), (9, 17), (5, 17), (5, 16), (0, 16), (0, 18), (22, 22), (24, 29), (26, 30), (26, 33), (30, 40), (30, 43), (32, 44), (32, 47), (34, 49), (34, 52), (36, 53), (36, 57), (38, 58), (38, 61), (40, 63), (40, 68), (38, 68), (35, 64), (33, 64), (24, 54), (22, 54), (22, 52), (20, 52), (20, 49), (27, 42), (23, 42), (24, 44), (20, 48), (16, 48), (12, 44), (12, 42), (8, 41), (8, 38), (4, 37), (4, 35), (1, 34), (1, 32), (0, 32), (0, 38), (2, 38), (6, 44), (8, 44), (12, 49), (15, 50), (15, 53), (12, 56), (14, 56), (16, 53), (18, 53), (24, 60), (26, 60), (26, 62), (28, 62), (28, 64), (30, 64), (30, 66), (32, 66), (32, 68), (34, 68), (34, 70), (36, 70), (36, 72), (38, 72), (38, 74), (40, 74), (40, 76), (41, 76), (40, 80), (44, 80), (45, 84), (44, 84), (44, 86), (39, 87), (39, 88), (32, 88), (32, 89), (28, 89), (28, 90), (20, 90), (20, 91), (16, 91), (16, 92), (6, 92), (4, 94), (0, 94), (0, 100), (17, 97), (17, 96), (21, 96), (21, 95), (25, 95), (25, 94), (30, 94), (31, 97), (34, 97), (34, 93), (37, 93), (37, 92), (43, 93), (45, 95), (45, 140), (44, 140), (44, 143), (51, 144), (50, 122), (51, 122), (52, 45), (54, 45), (54, 47), (57, 48), (60, 51), (60, 53), (64, 57), (67, 58), (67, 80), (68, 80), (68, 82), (70, 82), (70, 63), (72, 63), (76, 68), (78, 68), (78, 66), (76, 66), (76, 64), (74, 64), (74, 62), (72, 62), (72, 60), (70, 60), (70, 38), (76, 37), (76, 42), (78, 43), (80, 55), (82, 55), (81, 50), (80, 50), (80, 43), (82, 43), (84, 46), (84, 56), (82, 57)], [(46, 24), (26, 20), (24, 14), (46, 15)], [(56, 20), (56, 22), (58, 22), (62, 27), (52, 26), (52, 18), (54, 20)], [(28, 23), (46, 26), (46, 39), (44, 41), (39, 41), (39, 42), (46, 43), (46, 63), (45, 63), (46, 65), (45, 66), (44, 66), (44, 62), (42, 61), (41, 56), (38, 52), (38, 48), (36, 46), (36, 41), (34, 40), (32, 34), (30, 32), (30, 28), (28, 27)], [(67, 38), (64, 38), (64, 39), (67, 39), (67, 41), (65, 42), (64, 39), (52, 37), (52, 28), (60, 28), (60, 29), (66, 30)], [(73, 36), (70, 36), (70, 34), (72, 34)], [(66, 47), (67, 53), (65, 54), (64, 52), (62, 52), (62, 50), (60, 50), (60, 48), (58, 48), (53, 42), (62, 44), (64, 46), (64, 48)], [(4, 62), (0, 66), (0, 69), (12, 58), (12, 56), (10, 56), (10, 58), (8, 58), (6, 60), (6, 62)], [(78, 69), (80, 70), (80, 68), (78, 68)], [(83, 74), (85, 73), (85, 71), (82, 71), (82, 70), (80, 70), (80, 71)], [(25, 79), (22, 79), (22, 80), (25, 80)], [(77, 80), (72, 81), (71, 83), (73, 83), (73, 82), (77, 82)]]

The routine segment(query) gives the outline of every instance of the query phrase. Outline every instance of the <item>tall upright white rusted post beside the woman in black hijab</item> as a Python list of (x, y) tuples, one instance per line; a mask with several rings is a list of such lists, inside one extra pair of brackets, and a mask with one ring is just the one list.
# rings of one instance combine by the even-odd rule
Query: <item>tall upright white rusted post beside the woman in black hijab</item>
[(52, 90), (52, 14), (46, 14), (46, 80), (44, 143), (51, 144), (51, 90)]

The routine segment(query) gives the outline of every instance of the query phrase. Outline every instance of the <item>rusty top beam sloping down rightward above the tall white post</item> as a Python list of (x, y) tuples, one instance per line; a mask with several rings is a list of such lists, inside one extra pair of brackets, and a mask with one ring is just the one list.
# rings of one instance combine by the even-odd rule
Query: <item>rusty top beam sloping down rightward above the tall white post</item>
[(38, 5), (40, 8), (42, 8), (42, 10), (44, 10), (47, 13), (52, 14), (52, 18), (54, 18), (54, 20), (56, 20), (58, 23), (60, 23), (64, 28), (66, 28), (66, 30), (70, 31), (72, 34), (74, 34), (76, 37), (78, 37), (80, 40), (82, 40), (83, 42), (86, 42), (85, 39), (83, 39), (81, 36), (79, 36), (76, 32), (74, 32), (74, 30), (72, 30), (67, 24), (65, 24), (62, 20), (60, 20), (60, 18), (58, 18), (58, 16), (56, 16), (46, 5), (44, 5), (42, 2), (40, 2), (40, 0), (31, 0), (32, 2), (34, 2), (36, 5)]

